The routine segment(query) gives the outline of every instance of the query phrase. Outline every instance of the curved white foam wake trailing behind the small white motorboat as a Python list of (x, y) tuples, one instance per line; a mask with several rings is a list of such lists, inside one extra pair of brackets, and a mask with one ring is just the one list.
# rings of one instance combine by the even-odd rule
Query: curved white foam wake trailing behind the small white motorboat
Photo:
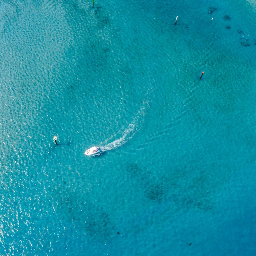
[[(151, 93), (151, 90), (150, 91), (148, 90), (146, 95), (150, 93)], [(132, 138), (134, 134), (136, 134), (136, 132), (140, 130), (144, 122), (144, 116), (146, 116), (147, 114), (148, 107), (149, 107), (148, 100), (143, 100), (143, 104), (140, 107), (140, 110), (138, 111), (138, 113), (136, 114), (132, 122), (124, 130), (124, 132), (122, 133), (122, 137), (117, 140), (114, 140), (113, 142), (108, 143), (106, 146), (103, 146), (102, 151), (118, 148), (122, 146), (124, 143), (126, 143), (128, 140), (130, 140), (130, 138)]]

